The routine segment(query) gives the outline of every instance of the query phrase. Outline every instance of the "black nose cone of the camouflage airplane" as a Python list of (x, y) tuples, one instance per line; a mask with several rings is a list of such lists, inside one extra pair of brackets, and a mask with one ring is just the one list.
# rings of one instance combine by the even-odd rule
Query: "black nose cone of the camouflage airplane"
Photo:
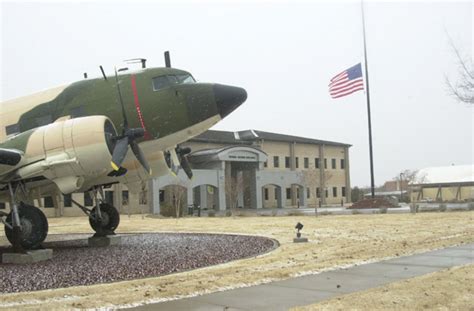
[(247, 92), (241, 87), (215, 84), (214, 96), (217, 111), (222, 118), (234, 111), (247, 99)]

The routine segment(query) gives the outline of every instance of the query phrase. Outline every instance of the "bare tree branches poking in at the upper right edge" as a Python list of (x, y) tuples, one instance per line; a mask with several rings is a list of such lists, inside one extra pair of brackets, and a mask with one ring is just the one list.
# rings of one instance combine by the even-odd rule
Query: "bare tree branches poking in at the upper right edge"
[(456, 55), (456, 62), (458, 67), (458, 79), (456, 82), (450, 81), (448, 76), (445, 76), (446, 84), (449, 93), (458, 101), (466, 104), (474, 104), (474, 66), (472, 59), (466, 60), (460, 53), (459, 49), (453, 42), (453, 39), (446, 31), (449, 44)]

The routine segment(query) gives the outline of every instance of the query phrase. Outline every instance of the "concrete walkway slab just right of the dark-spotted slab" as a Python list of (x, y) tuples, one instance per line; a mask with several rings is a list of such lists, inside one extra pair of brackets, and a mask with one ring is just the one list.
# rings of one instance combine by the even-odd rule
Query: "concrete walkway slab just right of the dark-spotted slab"
[(360, 265), (357, 267), (342, 269), (344, 273), (354, 274), (357, 276), (375, 276), (393, 279), (393, 281), (412, 278), (423, 274), (438, 271), (439, 267), (424, 266), (406, 266), (406, 265), (390, 265), (384, 262)]

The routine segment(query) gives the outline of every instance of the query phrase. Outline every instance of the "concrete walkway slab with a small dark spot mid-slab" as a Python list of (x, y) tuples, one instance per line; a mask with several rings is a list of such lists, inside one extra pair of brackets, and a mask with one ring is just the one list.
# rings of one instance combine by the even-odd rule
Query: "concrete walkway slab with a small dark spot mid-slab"
[(377, 287), (394, 281), (395, 280), (392, 278), (384, 278), (380, 276), (354, 276), (354, 274), (344, 273), (342, 271), (330, 271), (317, 275), (308, 275), (285, 281), (278, 281), (272, 283), (272, 285), (285, 288), (333, 292), (341, 295), (344, 293)]

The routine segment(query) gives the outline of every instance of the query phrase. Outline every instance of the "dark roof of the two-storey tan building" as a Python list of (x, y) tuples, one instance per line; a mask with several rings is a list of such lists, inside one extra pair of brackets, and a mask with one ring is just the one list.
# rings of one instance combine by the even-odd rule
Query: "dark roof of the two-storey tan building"
[(190, 141), (251, 145), (252, 142), (258, 141), (258, 140), (295, 142), (295, 143), (302, 143), (302, 144), (318, 144), (318, 145), (324, 144), (324, 145), (330, 145), (330, 146), (344, 146), (344, 147), (351, 146), (345, 143), (300, 137), (300, 136), (285, 135), (285, 134), (279, 134), (279, 133), (264, 132), (264, 131), (258, 131), (258, 130), (245, 130), (245, 131), (239, 131), (239, 132), (208, 130), (202, 133), (201, 135), (198, 135), (192, 138)]

